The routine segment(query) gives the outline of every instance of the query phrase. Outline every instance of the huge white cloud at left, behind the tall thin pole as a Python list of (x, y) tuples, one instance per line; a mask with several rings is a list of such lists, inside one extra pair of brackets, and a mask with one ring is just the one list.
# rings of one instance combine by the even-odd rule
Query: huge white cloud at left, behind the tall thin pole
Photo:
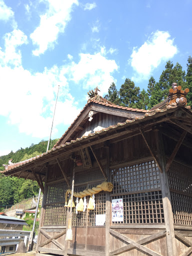
[[(26, 43), (24, 33), (13, 30), (4, 40), (4, 51), (0, 48), (0, 115), (6, 116), (9, 124), (17, 125), (20, 132), (39, 138), (48, 136), (60, 85), (54, 127), (70, 124), (80, 109), (69, 93), (64, 66), (45, 67), (43, 72), (28, 71), (22, 67), (21, 52), (17, 50), (17, 46)], [(52, 134), (55, 131), (56, 128)]]

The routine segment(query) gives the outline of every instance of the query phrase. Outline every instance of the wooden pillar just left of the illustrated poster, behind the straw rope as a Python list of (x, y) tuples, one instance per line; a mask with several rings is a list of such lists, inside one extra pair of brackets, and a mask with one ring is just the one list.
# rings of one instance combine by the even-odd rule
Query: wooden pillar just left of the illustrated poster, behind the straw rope
[[(109, 146), (106, 146), (106, 175), (108, 181), (110, 181), (110, 155), (109, 155)], [(110, 233), (109, 226), (111, 221), (111, 203), (110, 203), (110, 192), (106, 192), (106, 202), (105, 202), (105, 255), (109, 255), (110, 250)]]

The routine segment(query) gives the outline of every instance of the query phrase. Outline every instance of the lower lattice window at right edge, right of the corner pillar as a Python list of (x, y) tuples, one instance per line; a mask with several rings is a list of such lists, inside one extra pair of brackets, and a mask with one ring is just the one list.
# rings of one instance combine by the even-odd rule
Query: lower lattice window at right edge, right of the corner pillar
[(192, 197), (170, 192), (175, 224), (192, 224)]

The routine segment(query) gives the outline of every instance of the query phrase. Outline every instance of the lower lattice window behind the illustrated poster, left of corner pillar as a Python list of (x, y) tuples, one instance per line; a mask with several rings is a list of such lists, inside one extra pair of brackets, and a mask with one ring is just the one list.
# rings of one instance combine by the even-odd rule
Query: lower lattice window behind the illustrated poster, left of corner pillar
[(113, 223), (162, 223), (164, 222), (160, 191), (112, 196), (123, 198), (123, 222)]

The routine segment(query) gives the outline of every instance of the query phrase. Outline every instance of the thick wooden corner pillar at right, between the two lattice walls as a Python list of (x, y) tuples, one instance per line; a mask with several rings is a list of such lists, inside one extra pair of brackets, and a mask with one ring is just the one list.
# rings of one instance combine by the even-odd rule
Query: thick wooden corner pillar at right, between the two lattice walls
[(167, 255), (175, 256), (176, 249), (175, 249), (175, 237), (174, 237), (174, 226), (173, 226), (173, 214), (172, 214), (172, 207), (171, 207), (170, 191), (168, 186), (168, 177), (165, 171), (166, 159), (165, 159), (165, 153), (164, 153), (162, 134), (159, 131), (155, 131), (155, 137), (156, 137), (158, 159), (162, 166), (162, 172), (159, 171), (159, 174), (160, 174), (160, 185), (161, 185), (161, 193), (162, 193), (163, 212), (164, 212), (164, 223), (166, 228)]

